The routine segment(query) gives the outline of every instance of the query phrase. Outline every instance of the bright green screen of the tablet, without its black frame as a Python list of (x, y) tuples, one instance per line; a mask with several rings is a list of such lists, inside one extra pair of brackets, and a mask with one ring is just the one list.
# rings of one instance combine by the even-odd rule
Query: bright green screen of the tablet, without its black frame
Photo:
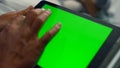
[(37, 65), (42, 68), (87, 68), (112, 28), (47, 4), (43, 7), (51, 9), (52, 14), (38, 37), (58, 22), (62, 27), (45, 48)]

